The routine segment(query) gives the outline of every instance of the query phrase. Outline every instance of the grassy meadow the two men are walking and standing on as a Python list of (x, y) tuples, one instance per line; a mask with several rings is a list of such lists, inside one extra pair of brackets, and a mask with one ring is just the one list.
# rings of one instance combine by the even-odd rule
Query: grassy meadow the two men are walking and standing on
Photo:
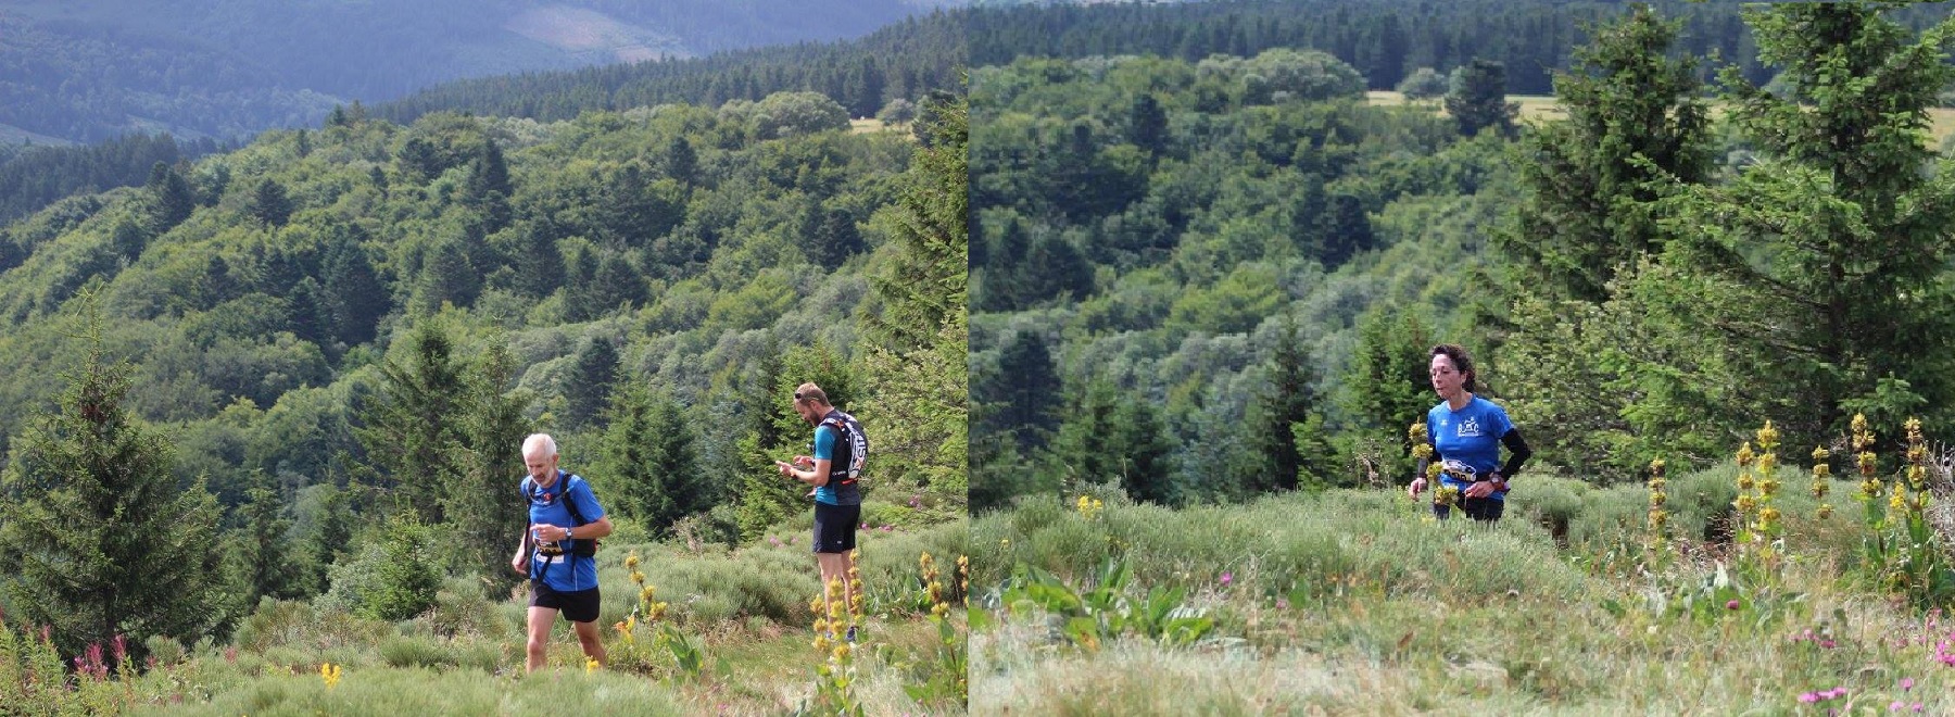
[[(850, 703), (878, 715), (964, 713), (964, 666), (950, 654), (964, 654), (964, 612), (940, 610), (948, 625), (933, 617), (919, 557), (933, 555), (938, 602), (956, 604), (968, 526), (870, 526), (860, 535), (866, 592), (847, 658), (813, 647), (819, 584), (805, 527), (788, 524), (741, 549), (606, 545), (606, 668), (586, 664), (559, 619), (547, 668), (526, 676), (524, 588), (491, 600), (479, 582), (450, 578), (413, 619), (266, 600), (227, 645), (152, 641), (154, 664), (127, 672), (106, 645), (61, 688), (63, 666), (35, 631), (10, 623), (0, 631), (0, 703), (37, 715), (778, 715)], [(626, 565), (631, 555), (643, 582)], [(639, 600), (643, 588), (649, 600)], [(850, 676), (847, 703), (823, 701), (821, 664)]]

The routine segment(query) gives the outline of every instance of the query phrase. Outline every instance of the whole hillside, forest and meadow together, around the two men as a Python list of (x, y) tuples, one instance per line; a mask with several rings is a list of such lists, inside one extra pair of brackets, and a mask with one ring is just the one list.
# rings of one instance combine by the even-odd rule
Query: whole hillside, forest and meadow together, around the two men
[[(0, 576), (0, 705), (960, 713), (966, 129), (927, 117), (348, 111), (0, 229), (0, 555), (53, 569)], [(807, 379), (876, 445), (852, 651), (811, 639), (805, 486), (770, 463)], [(563, 637), (514, 678), (530, 432), (618, 527), (612, 676)]]

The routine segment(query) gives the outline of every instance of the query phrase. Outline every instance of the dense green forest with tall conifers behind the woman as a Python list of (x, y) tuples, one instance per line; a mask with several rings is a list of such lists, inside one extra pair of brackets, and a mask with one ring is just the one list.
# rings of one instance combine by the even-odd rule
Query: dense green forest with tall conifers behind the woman
[[(972, 76), (974, 510), (1404, 483), (1437, 342), (1478, 354), (1537, 461), (1599, 483), (1705, 465), (1767, 418), (1801, 451), (1853, 412), (1887, 442), (1908, 414), (1955, 428), (1926, 113), (1945, 25), (1748, 10), (1760, 49), (1726, 68), (1681, 51), (1699, 14), (1625, 16), (1542, 125), (1501, 98), (1525, 63), (1468, 63), (1439, 113), (1368, 105), (1376, 78), (1320, 51), (1146, 55), (1265, 8), (997, 16), (1134, 21), (1105, 29), (1118, 57)], [(1873, 66), (1890, 82), (1844, 80)]]

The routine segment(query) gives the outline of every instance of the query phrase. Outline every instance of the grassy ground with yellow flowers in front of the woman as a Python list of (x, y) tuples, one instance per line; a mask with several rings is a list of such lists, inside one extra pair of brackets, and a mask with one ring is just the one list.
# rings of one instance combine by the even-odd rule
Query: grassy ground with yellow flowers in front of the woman
[[(1642, 551), (1642, 486), (1595, 488), (1531, 475), (1496, 527), (1435, 522), (1396, 490), (1284, 494), (1245, 506), (1165, 510), (1108, 500), (1097, 516), (1026, 502), (972, 524), (972, 637), (979, 713), (1887, 713), (1894, 699), (1949, 713), (1955, 668), (1932, 658), (1947, 629), (1857, 574), (1861, 527), (1846, 483), (1814, 518), (1808, 479), (1779, 479), (1791, 561), (1777, 584), (1742, 584), (1742, 606), (1705, 584), (1732, 469), (1675, 477), (1672, 557)], [(1050, 498), (1046, 498), (1050, 500)], [(1705, 535), (1713, 535), (1711, 541)], [(1013, 565), (1085, 586), (1126, 561), (1130, 594), (1187, 590), (1216, 619), (1206, 639), (1161, 647), (1132, 635), (1101, 649), (1058, 637), (1036, 612), (991, 604)], [(1691, 602), (1687, 602), (1691, 600)], [(1685, 604), (1715, 606), (1693, 613)], [(1832, 647), (1797, 639), (1806, 629)], [(1924, 643), (1926, 641), (1926, 643)], [(1900, 690), (1900, 680), (1914, 680)], [(1820, 709), (1818, 713), (1824, 713)]]

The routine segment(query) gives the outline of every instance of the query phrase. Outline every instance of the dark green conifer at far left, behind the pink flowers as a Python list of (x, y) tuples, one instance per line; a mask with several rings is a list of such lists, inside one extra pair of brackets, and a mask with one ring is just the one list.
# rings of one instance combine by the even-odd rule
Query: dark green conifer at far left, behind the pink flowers
[(217, 502), (180, 486), (168, 442), (129, 414), (129, 365), (109, 359), (94, 299), (84, 305), (88, 354), (63, 371), (59, 408), (35, 416), (4, 479), (10, 604), (51, 625), (66, 654), (123, 635), (201, 637), (221, 602)]

